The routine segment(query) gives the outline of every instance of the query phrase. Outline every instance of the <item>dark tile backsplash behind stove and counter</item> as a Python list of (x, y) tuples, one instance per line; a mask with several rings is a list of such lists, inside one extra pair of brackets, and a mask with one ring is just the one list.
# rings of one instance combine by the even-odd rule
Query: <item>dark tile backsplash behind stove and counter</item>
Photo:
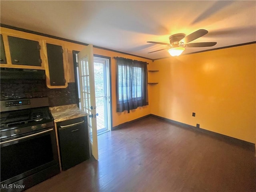
[(46, 81), (40, 79), (1, 79), (0, 84), (1, 100), (48, 97), (50, 107), (76, 104), (75, 83), (68, 83), (64, 89), (49, 89)]

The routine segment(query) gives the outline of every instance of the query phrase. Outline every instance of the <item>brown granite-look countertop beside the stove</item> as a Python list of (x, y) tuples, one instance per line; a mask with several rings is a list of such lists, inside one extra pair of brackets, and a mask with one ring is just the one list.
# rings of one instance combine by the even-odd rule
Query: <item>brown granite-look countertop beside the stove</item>
[(54, 118), (54, 123), (88, 115), (86, 112), (81, 111), (76, 104), (50, 107), (50, 111)]

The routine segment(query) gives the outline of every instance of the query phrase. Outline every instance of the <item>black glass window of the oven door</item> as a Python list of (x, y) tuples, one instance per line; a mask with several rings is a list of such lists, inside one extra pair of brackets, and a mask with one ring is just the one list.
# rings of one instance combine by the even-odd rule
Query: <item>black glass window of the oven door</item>
[(27, 176), (54, 161), (51, 134), (1, 146), (1, 181), (23, 174)]

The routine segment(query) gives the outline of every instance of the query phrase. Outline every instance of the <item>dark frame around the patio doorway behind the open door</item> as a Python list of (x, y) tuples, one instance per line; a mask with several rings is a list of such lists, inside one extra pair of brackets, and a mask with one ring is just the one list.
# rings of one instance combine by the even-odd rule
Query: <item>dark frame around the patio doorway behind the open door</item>
[[(76, 104), (79, 108), (79, 95), (78, 95), (78, 74), (76, 67), (78, 66), (78, 62), (76, 62), (76, 54), (80, 51), (73, 50), (73, 64), (74, 64), (74, 75), (75, 75), (75, 87), (76, 87)], [(112, 76), (111, 76), (111, 57), (93, 54), (94, 57), (108, 59), (108, 74), (109, 74), (109, 88), (110, 88), (110, 131), (112, 131), (113, 119), (112, 119)]]

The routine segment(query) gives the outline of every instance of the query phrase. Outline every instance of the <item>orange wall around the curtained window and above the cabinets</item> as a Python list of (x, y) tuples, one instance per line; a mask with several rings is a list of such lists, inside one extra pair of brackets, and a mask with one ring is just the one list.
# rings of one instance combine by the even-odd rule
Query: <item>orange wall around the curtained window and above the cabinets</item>
[[(2, 27), (1, 27), (2, 30)], [(74, 82), (74, 68), (73, 68), (73, 58), (72, 58), (72, 50), (81, 51), (85, 46), (80, 44), (75, 44), (72, 42), (66, 42), (62, 40), (52, 39), (44, 36), (34, 35), (26, 32), (20, 32), (12, 29), (6, 29), (5, 31), (11, 32), (13, 34), (19, 34), (24, 36), (24, 38), (29, 36), (34, 36), (39, 39), (43, 40), (51, 40), (51, 42), (58, 42), (64, 44), (65, 48), (68, 49), (69, 54), (69, 71), (70, 71), (70, 82)], [(152, 64), (152, 60), (143, 59), (136, 56), (130, 56), (126, 54), (120, 54), (117, 52), (112, 52), (108, 50), (102, 50), (98, 48), (94, 48), (94, 54), (99, 54), (103, 56), (111, 57), (111, 80), (112, 80), (112, 126), (118, 126), (119, 124), (122, 124), (124, 122), (128, 122), (137, 118), (140, 118), (142, 116), (146, 116), (150, 114), (150, 105), (139, 107), (135, 110), (130, 110), (130, 113), (127, 113), (127, 111), (124, 112), (116, 112), (116, 60), (113, 57), (124, 57), (124, 58), (130, 58), (133, 60), (139, 60), (139, 61), (145, 61), (149, 64)], [(151, 89), (149, 88), (149, 95), (150, 95)]]

